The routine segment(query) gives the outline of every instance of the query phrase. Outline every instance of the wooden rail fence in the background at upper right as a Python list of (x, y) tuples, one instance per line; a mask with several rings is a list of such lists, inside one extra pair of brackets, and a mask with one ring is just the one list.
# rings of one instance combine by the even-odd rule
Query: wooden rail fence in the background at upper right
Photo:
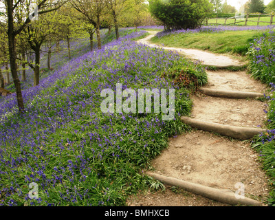
[[(250, 16), (253, 16), (254, 18), (258, 16), (258, 19), (256, 21), (251, 20)], [(267, 18), (267, 17), (270, 17), (270, 19), (265, 19), (266, 21), (260, 21), (261, 18)], [(250, 21), (250, 22), (256, 22), (257, 25), (259, 25), (259, 23), (268, 23), (269, 25), (272, 25), (273, 23), (275, 23), (275, 21), (273, 21), (273, 17), (274, 17), (273, 14), (245, 14), (245, 15), (240, 15), (240, 16), (230, 17), (230, 18), (207, 18), (205, 21), (205, 24), (206, 25), (236, 25), (236, 23), (244, 22), (244, 25), (248, 25), (248, 21)], [(216, 22), (210, 23), (209, 20), (216, 20)], [(218, 23), (218, 20), (219, 21), (224, 20), (224, 22)]]

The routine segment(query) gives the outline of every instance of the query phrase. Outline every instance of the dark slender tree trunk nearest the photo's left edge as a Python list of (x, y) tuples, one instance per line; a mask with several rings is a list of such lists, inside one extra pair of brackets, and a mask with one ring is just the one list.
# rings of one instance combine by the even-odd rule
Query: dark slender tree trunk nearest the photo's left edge
[(25, 111), (22, 92), (21, 92), (21, 83), (17, 74), (17, 51), (15, 48), (15, 37), (14, 33), (14, 23), (13, 23), (13, 1), (5, 1), (7, 4), (7, 14), (8, 14), (8, 45), (9, 45), (9, 54), (10, 54), (10, 71), (12, 72), (12, 78), (14, 81), (15, 91), (17, 93), (17, 104), (19, 112)]

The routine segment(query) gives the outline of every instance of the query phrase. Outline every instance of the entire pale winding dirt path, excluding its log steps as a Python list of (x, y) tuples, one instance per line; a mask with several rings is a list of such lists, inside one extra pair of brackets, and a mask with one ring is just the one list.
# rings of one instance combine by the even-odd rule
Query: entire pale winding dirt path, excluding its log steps
[[(138, 41), (151, 45), (146, 39)], [(164, 49), (170, 50), (169, 47)], [(171, 50), (186, 50), (172, 48)], [(188, 50), (191, 52), (191, 50)], [(241, 65), (227, 56), (217, 56), (207, 52), (192, 50), (193, 56), (205, 59), (208, 65)], [(203, 56), (201, 55), (203, 54)], [(215, 59), (212, 59), (215, 56)], [(190, 57), (188, 55), (188, 57)], [(245, 72), (208, 72), (210, 89), (233, 91), (266, 91), (265, 85), (252, 80)], [(193, 108), (191, 118), (244, 127), (264, 127), (265, 102), (253, 99), (233, 99), (211, 97), (203, 94), (192, 96)], [(268, 195), (267, 177), (261, 169), (258, 155), (250, 148), (248, 141), (235, 140), (207, 131), (194, 129), (170, 138), (168, 148), (153, 160), (153, 172), (175, 177), (195, 184), (212, 188), (236, 191), (235, 184), (245, 186), (245, 197), (264, 202)], [(130, 197), (129, 206), (228, 206), (199, 195), (166, 185), (165, 192), (146, 192)]]

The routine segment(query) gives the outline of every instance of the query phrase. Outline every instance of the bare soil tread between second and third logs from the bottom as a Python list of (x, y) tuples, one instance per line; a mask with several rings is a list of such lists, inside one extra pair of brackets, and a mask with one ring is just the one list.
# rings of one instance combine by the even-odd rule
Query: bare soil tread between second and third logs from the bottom
[(245, 99), (228, 99), (198, 94), (191, 97), (191, 118), (201, 121), (259, 128), (264, 126), (265, 102)]

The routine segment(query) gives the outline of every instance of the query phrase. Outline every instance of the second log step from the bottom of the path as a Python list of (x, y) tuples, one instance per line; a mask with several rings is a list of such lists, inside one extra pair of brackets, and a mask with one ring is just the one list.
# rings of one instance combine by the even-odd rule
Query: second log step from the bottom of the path
[(194, 129), (219, 133), (227, 137), (233, 137), (240, 140), (249, 140), (255, 135), (265, 133), (266, 129), (247, 128), (241, 126), (232, 126), (214, 122), (203, 122), (192, 118), (181, 116), (181, 121), (190, 125)]

